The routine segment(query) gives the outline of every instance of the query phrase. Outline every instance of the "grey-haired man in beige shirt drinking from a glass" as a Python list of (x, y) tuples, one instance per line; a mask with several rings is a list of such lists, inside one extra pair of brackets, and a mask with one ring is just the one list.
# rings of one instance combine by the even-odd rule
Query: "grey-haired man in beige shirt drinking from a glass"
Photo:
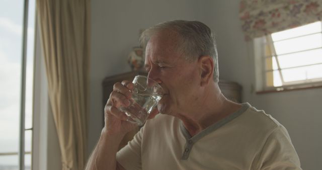
[(133, 84), (116, 83), (87, 169), (301, 169), (279, 122), (220, 92), (215, 41), (206, 25), (165, 22), (146, 30), (141, 41), (148, 77), (165, 95), (154, 118), (117, 151), (135, 125), (118, 110), (129, 105)]

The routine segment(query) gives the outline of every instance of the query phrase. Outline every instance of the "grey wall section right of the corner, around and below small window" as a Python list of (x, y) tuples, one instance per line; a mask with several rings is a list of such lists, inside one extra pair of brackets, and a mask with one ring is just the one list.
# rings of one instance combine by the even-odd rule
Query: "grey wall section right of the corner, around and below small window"
[(322, 89), (257, 95), (253, 44), (244, 41), (238, 19), (239, 1), (204, 1), (200, 21), (217, 35), (219, 74), (243, 86), (243, 101), (263, 109), (282, 123), (291, 136), (303, 169), (320, 169), (322, 161)]

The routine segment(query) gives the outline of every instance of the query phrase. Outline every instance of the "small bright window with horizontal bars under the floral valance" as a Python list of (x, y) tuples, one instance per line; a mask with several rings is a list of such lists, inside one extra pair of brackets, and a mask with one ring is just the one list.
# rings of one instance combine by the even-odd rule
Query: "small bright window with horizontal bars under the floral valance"
[[(255, 40), (257, 90), (287, 90), (322, 85), (321, 22), (273, 33)], [(257, 57), (257, 58), (258, 58)], [(260, 66), (258, 66), (260, 65)], [(262, 76), (262, 77), (260, 77)], [(265, 77), (265, 78), (263, 78)]]

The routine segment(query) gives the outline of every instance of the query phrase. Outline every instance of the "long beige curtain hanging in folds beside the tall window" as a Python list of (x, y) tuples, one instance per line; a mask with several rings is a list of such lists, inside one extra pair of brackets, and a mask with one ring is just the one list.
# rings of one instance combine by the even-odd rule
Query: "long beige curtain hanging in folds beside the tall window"
[(62, 169), (84, 169), (90, 57), (90, 0), (37, 0)]

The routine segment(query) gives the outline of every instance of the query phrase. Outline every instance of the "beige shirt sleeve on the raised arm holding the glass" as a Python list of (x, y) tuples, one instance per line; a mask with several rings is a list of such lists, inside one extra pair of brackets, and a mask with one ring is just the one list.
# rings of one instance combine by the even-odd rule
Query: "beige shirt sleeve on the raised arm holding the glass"
[(116, 160), (127, 170), (142, 169), (141, 141), (143, 128), (136, 133), (126, 146), (116, 153)]

